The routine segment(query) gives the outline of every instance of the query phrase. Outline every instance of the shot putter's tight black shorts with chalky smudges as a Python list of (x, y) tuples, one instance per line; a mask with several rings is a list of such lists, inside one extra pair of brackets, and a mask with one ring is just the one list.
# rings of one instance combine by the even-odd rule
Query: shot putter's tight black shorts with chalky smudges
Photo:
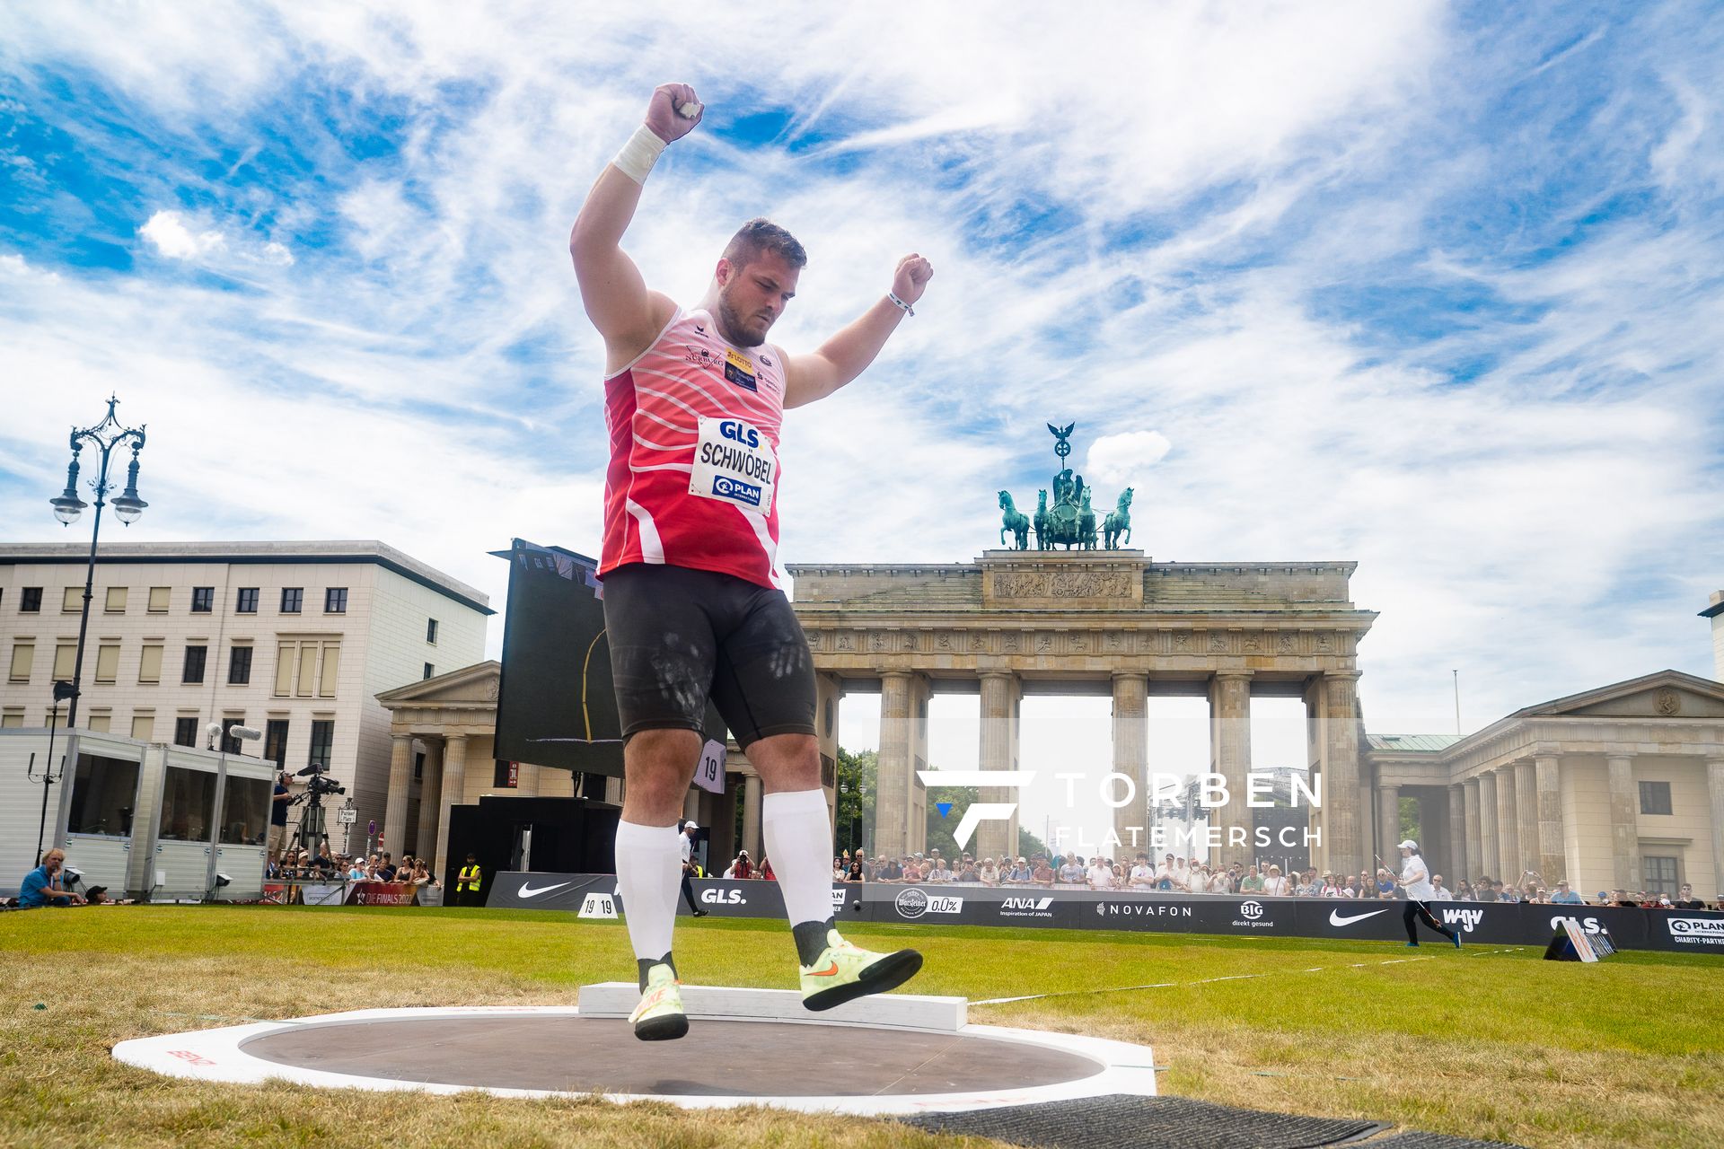
[(605, 634), (624, 741), (703, 729), (709, 698), (743, 749), (814, 734), (814, 656), (783, 591), (629, 563), (605, 575)]

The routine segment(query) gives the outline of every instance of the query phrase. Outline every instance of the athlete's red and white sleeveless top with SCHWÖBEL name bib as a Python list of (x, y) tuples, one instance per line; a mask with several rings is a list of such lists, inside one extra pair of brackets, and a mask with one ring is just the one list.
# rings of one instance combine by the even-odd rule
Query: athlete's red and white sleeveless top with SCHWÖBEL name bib
[(667, 563), (779, 586), (783, 417), (778, 348), (731, 346), (705, 310), (678, 308), (650, 348), (605, 379), (600, 577)]

